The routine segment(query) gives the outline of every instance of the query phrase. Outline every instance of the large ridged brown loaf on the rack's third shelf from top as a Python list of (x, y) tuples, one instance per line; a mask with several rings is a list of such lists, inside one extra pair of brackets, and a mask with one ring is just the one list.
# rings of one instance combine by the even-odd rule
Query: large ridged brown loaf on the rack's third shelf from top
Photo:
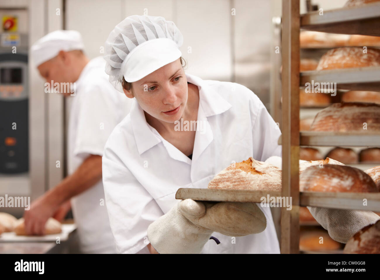
[(311, 131), (380, 131), (380, 105), (373, 103), (335, 103), (315, 116)]

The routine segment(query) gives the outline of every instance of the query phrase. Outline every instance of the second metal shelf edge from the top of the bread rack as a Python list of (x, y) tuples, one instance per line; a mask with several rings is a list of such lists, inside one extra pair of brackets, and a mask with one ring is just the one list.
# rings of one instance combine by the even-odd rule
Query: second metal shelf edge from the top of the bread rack
[(336, 83), (338, 90), (378, 91), (380, 89), (380, 67), (313, 70), (300, 73), (300, 86), (305, 86), (306, 83), (312, 81), (314, 84), (316, 82)]

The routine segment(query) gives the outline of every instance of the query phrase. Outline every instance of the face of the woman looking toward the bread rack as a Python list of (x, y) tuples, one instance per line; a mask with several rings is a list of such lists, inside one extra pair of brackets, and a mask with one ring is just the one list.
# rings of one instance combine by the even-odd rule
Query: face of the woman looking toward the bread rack
[(124, 89), (135, 97), (141, 108), (158, 120), (174, 123), (184, 113), (187, 103), (187, 79), (180, 59), (173, 61)]

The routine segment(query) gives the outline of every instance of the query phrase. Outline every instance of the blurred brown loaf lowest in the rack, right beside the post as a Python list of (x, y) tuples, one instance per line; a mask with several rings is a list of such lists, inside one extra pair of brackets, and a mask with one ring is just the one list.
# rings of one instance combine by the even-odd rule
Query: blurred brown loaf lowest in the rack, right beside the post
[(299, 234), (299, 250), (302, 251), (329, 251), (339, 250), (342, 245), (329, 237), (326, 230), (301, 230)]

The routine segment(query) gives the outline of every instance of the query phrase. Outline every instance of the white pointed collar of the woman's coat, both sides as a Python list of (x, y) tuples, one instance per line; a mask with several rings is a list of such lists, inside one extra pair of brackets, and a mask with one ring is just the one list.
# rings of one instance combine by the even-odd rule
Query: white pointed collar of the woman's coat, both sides
[[(198, 86), (199, 89), (198, 119), (221, 114), (232, 107), (229, 102), (222, 98), (211, 86), (207, 85), (204, 80), (187, 73), (185, 75), (187, 82)], [(130, 118), (140, 155), (162, 141), (162, 137), (157, 130), (146, 122), (144, 110), (142, 110), (136, 99), (133, 100)], [(209, 142), (214, 139), (211, 129), (206, 131), (205, 137)], [(193, 160), (195, 160), (194, 155)]]

